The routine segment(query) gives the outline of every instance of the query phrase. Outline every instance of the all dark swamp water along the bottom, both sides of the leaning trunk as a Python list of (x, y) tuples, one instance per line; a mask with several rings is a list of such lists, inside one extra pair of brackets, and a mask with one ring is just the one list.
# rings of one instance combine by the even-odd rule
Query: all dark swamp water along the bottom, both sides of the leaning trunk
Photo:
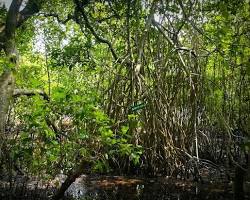
[[(65, 177), (57, 180), (63, 182)], [(29, 186), (30, 185), (30, 186)], [(0, 187), (0, 199), (50, 199), (53, 191), (39, 185), (17, 187), (7, 191)], [(41, 184), (41, 186), (44, 186)], [(250, 184), (249, 184), (250, 186)], [(54, 187), (53, 187), (54, 188)], [(55, 189), (55, 188), (54, 188)], [(55, 190), (54, 190), (55, 191)], [(81, 176), (66, 191), (65, 200), (233, 200), (232, 183), (218, 181), (182, 181), (170, 178), (138, 178), (123, 176)], [(250, 194), (245, 195), (245, 200)]]

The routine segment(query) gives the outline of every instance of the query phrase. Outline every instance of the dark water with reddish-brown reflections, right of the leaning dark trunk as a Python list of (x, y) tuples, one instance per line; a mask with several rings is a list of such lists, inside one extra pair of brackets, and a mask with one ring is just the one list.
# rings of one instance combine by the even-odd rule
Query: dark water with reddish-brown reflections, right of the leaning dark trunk
[(124, 177), (78, 179), (66, 192), (67, 199), (82, 200), (226, 200), (233, 199), (230, 184), (191, 184), (169, 179)]

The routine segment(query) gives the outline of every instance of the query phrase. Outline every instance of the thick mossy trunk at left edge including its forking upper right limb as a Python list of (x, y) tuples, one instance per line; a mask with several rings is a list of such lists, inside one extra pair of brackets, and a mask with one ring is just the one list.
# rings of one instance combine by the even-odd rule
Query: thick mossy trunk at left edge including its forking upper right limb
[(25, 8), (20, 11), (22, 3), (23, 0), (12, 0), (6, 15), (5, 25), (0, 27), (0, 51), (4, 49), (5, 56), (9, 61), (5, 66), (0, 66), (3, 68), (3, 73), (0, 74), (0, 158), (3, 158), (3, 151), (8, 152), (5, 149), (5, 125), (15, 87), (14, 71), (18, 68), (19, 60), (15, 39), (16, 29), (37, 13), (41, 5), (38, 0), (29, 0), (26, 2)]

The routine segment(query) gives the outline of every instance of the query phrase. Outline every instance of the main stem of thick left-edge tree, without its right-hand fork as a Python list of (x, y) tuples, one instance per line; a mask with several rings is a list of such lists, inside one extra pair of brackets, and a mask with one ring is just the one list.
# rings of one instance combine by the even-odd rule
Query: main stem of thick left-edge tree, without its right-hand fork
[(15, 32), (21, 4), (22, 0), (12, 1), (6, 16), (4, 34), (0, 38), (1, 43), (3, 43), (5, 55), (9, 60), (9, 63), (6, 66), (1, 66), (4, 69), (4, 72), (0, 76), (0, 156), (2, 156), (2, 151), (5, 149), (5, 124), (15, 86), (13, 70), (15, 70), (18, 65)]

